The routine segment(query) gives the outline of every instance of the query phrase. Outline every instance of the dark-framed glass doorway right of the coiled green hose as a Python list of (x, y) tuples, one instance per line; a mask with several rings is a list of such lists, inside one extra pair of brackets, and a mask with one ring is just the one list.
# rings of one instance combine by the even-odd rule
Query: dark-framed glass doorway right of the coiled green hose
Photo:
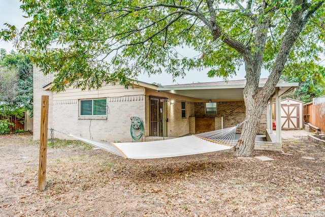
[(167, 99), (150, 97), (150, 136), (167, 137)]

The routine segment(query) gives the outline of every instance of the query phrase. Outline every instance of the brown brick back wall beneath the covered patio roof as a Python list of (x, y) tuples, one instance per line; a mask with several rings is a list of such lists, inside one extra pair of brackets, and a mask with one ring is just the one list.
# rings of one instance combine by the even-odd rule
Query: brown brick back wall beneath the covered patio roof
[[(194, 103), (194, 116), (216, 116), (223, 117), (223, 128), (234, 127), (245, 119), (245, 103), (244, 101), (226, 101), (217, 102), (217, 114), (206, 114), (205, 102)], [(264, 109), (259, 123), (257, 134), (265, 134), (267, 128), (267, 109)], [(217, 129), (217, 128), (216, 128)], [(242, 127), (237, 129), (237, 133), (241, 133)]]

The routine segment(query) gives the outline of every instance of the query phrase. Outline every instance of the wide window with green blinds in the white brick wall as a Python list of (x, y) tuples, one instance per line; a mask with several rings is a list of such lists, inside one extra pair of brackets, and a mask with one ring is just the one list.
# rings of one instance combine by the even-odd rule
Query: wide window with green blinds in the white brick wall
[(81, 116), (103, 116), (106, 115), (106, 113), (106, 99), (80, 101)]

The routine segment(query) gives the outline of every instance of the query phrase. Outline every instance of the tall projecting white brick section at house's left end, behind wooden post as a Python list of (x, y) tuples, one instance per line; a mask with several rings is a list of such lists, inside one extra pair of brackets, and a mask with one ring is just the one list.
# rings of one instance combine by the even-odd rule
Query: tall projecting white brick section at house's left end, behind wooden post
[[(43, 86), (53, 81), (53, 75), (44, 76), (43, 72), (39, 68), (33, 66), (33, 139), (40, 139), (41, 135), (41, 101), (42, 96), (49, 96), (49, 117), (48, 128), (52, 127), (53, 122), (53, 95), (51, 91), (43, 90)], [(50, 131), (48, 131), (48, 138), (50, 137)]]

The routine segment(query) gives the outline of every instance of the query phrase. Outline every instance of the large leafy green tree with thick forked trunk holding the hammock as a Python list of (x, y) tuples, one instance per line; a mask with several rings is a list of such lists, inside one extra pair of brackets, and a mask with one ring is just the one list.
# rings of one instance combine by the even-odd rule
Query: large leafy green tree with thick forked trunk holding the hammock
[[(7, 24), (1, 36), (53, 73), (53, 89), (67, 85), (127, 86), (139, 73), (184, 76), (208, 69), (229, 77), (244, 64), (246, 122), (235, 154), (251, 156), (267, 101), (283, 69), (324, 52), (323, 0), (22, 0), (31, 20)], [(182, 55), (180, 48), (196, 54)], [(262, 68), (270, 72), (262, 89)], [(244, 153), (245, 152), (245, 153)]]

